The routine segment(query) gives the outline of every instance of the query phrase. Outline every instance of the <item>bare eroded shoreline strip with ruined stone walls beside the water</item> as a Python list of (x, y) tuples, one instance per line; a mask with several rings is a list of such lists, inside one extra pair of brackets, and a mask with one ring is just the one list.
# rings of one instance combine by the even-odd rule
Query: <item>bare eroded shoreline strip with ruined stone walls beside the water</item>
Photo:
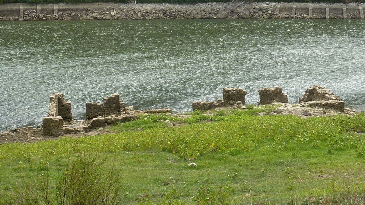
[[(259, 106), (246, 106), (245, 96), (247, 92), (242, 88), (223, 88), (223, 99), (218, 101), (195, 101), (192, 103), (194, 111), (203, 111), (203, 115), (214, 115), (219, 111), (261, 109), (256, 115), (293, 115), (302, 118), (355, 115), (356, 112), (345, 108), (345, 102), (330, 90), (319, 85), (314, 85), (305, 91), (299, 98), (299, 104), (289, 104), (287, 94), (280, 87), (259, 90)], [(42, 127), (23, 127), (9, 129), (0, 133), (0, 144), (14, 142), (36, 142), (39, 140), (58, 139), (60, 136), (82, 137), (113, 133), (111, 125), (126, 123), (137, 120), (145, 115), (157, 114), (172, 116), (181, 120), (181, 123), (163, 121), (167, 127), (181, 126), (185, 118), (191, 117), (192, 113), (173, 113), (171, 108), (147, 109), (144, 111), (134, 110), (133, 106), (126, 106), (120, 100), (119, 94), (114, 93), (103, 98), (103, 104), (86, 103), (86, 119), (73, 120), (71, 102), (65, 101), (64, 94), (50, 94), (49, 113), (43, 117)], [(261, 106), (272, 106), (269, 109)], [(266, 108), (266, 109), (265, 109)], [(139, 117), (138, 117), (139, 116)]]

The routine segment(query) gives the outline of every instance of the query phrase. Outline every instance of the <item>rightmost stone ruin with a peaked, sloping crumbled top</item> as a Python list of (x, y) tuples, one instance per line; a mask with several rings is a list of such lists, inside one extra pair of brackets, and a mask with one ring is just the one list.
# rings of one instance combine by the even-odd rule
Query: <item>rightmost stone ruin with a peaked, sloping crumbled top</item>
[(299, 103), (307, 107), (333, 109), (340, 112), (345, 110), (345, 102), (341, 101), (339, 96), (319, 85), (307, 89), (305, 94), (299, 97)]

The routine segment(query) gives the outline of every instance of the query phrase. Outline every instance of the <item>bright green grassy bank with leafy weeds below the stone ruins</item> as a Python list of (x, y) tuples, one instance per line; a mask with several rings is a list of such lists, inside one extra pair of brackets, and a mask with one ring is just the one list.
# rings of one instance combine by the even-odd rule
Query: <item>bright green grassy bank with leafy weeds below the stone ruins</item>
[(272, 109), (149, 115), (111, 127), (115, 134), (2, 144), (0, 204), (47, 175), (58, 201), (59, 176), (85, 155), (106, 158), (101, 176), (120, 171), (122, 204), (364, 203), (365, 116), (255, 115)]

